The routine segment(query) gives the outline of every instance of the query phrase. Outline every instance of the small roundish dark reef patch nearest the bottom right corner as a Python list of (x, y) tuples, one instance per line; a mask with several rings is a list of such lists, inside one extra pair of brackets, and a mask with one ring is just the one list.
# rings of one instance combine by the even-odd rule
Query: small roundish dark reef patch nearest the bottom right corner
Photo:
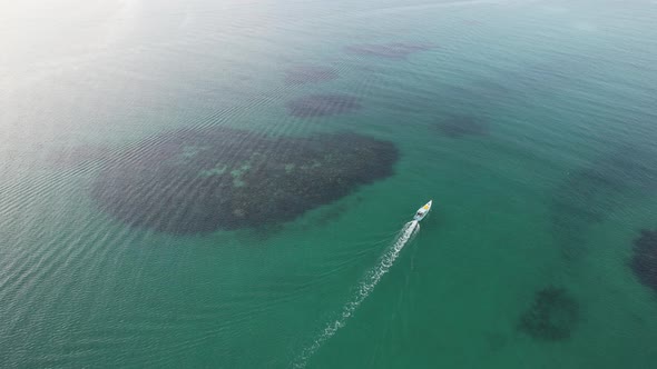
[(518, 329), (541, 341), (563, 340), (579, 321), (579, 310), (566, 289), (547, 287), (536, 292), (533, 303), (520, 316)]

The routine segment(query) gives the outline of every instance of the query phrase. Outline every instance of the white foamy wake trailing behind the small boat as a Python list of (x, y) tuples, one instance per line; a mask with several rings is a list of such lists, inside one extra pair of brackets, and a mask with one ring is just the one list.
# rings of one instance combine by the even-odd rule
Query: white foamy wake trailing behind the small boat
[(395, 241), (388, 248), (388, 250), (385, 250), (379, 260), (379, 263), (365, 273), (359, 283), (359, 289), (354, 297), (342, 308), (342, 315), (340, 315), (334, 321), (329, 322), (322, 332), (317, 335), (313, 343), (304, 348), (301, 355), (293, 361), (293, 368), (304, 368), (308, 359), (322, 347), (322, 345), (333, 337), (339, 329), (346, 325), (349, 318), (354, 313), (361, 302), (370, 296), (374, 287), (376, 287), (381, 280), (381, 277), (390, 270), (390, 267), (394, 263), (394, 260), (404, 248), (404, 245), (411, 240), (419, 229), (420, 225), (416, 220), (411, 220), (404, 225)]

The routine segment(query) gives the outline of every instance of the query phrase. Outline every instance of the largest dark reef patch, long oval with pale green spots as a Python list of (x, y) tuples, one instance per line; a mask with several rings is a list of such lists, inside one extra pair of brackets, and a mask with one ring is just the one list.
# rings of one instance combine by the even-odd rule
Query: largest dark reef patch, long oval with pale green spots
[(117, 151), (91, 193), (121, 221), (163, 232), (262, 228), (391, 176), (396, 159), (392, 142), (349, 132), (272, 138), (188, 129)]

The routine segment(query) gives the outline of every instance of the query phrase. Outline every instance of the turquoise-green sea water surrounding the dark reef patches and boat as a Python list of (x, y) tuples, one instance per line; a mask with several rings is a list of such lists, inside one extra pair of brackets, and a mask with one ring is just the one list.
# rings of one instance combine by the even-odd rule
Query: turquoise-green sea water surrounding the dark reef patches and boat
[[(657, 227), (656, 17), (650, 1), (0, 6), (2, 367), (653, 367), (657, 298), (628, 260)], [(359, 107), (290, 109), (326, 94)], [(138, 226), (94, 196), (117, 160), (148, 173), (148, 142), (204, 129), (352, 132), (399, 157), (262, 227), (167, 232), (149, 221), (173, 221), (156, 211), (170, 198), (129, 208), (147, 209)], [(300, 150), (264, 156), (278, 149)], [(178, 164), (157, 173), (187, 183)], [(185, 208), (199, 192), (178, 187)], [(550, 286), (578, 307), (556, 340), (519, 328)]]

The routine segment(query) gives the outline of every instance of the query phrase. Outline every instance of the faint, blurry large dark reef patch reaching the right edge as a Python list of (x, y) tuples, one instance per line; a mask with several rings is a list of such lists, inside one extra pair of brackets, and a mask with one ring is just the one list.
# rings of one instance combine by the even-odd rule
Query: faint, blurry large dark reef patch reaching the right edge
[(568, 259), (584, 251), (586, 229), (622, 209), (637, 196), (657, 190), (654, 154), (638, 147), (622, 146), (575, 170), (552, 197), (552, 233)]

